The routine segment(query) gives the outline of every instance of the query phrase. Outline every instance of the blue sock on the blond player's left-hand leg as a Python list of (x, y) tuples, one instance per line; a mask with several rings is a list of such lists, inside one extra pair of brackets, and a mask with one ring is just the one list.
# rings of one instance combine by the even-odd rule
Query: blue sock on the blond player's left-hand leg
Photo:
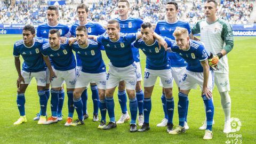
[(179, 125), (184, 126), (188, 95), (179, 92), (178, 113)]

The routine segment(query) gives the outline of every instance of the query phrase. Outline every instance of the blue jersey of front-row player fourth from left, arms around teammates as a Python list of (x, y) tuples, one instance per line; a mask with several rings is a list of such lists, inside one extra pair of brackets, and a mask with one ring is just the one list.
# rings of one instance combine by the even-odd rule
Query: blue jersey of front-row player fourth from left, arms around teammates
[(136, 41), (137, 34), (119, 34), (116, 42), (111, 41), (108, 34), (102, 34), (97, 38), (97, 42), (105, 47), (106, 54), (115, 67), (127, 67), (133, 60), (131, 44)]

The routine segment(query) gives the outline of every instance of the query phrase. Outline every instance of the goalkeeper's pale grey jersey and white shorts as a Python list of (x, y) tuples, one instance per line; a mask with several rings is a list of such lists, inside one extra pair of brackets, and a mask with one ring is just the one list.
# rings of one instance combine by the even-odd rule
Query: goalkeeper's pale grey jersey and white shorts
[[(191, 29), (192, 34), (201, 34), (201, 42), (205, 44), (205, 50), (210, 55), (214, 55), (225, 49), (228, 53), (233, 45), (233, 33), (229, 23), (223, 19), (218, 19), (214, 23), (208, 23), (206, 19), (198, 21)], [(215, 73), (228, 74), (228, 58), (227, 55), (223, 56), (218, 62), (219, 70)]]

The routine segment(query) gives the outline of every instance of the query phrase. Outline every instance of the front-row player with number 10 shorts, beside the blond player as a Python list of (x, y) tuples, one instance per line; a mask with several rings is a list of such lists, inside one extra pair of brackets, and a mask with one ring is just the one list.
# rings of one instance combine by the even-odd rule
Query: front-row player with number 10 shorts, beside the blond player
[[(149, 22), (141, 25), (142, 39), (133, 43), (134, 47), (138, 47), (147, 56), (146, 69), (144, 74), (144, 90), (145, 98), (143, 103), (145, 121), (139, 129), (139, 132), (149, 130), (149, 115), (151, 111), (151, 95), (154, 89), (154, 85), (157, 77), (159, 76), (166, 93), (166, 109), (173, 109), (173, 96), (172, 96), (172, 73), (170, 60), (167, 57), (167, 52), (164, 49), (158, 47), (158, 41), (153, 37), (154, 30)], [(170, 46), (171, 43), (169, 43)], [(171, 118), (171, 113), (168, 111), (167, 118)], [(167, 132), (170, 132), (173, 128), (172, 123), (167, 124)]]

